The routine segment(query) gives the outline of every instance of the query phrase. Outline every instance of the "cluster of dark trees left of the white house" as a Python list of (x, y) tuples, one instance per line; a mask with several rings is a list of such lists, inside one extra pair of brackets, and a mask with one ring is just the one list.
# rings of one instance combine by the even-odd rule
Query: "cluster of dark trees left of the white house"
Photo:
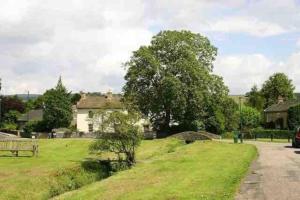
[(47, 90), (37, 99), (24, 101), (18, 96), (2, 96), (1, 127), (16, 130), (18, 117), (32, 109), (43, 109), (43, 120), (28, 122), (24, 127), (27, 131), (69, 127), (73, 118), (72, 103), (79, 100), (78, 95), (68, 92), (59, 78), (55, 88)]

